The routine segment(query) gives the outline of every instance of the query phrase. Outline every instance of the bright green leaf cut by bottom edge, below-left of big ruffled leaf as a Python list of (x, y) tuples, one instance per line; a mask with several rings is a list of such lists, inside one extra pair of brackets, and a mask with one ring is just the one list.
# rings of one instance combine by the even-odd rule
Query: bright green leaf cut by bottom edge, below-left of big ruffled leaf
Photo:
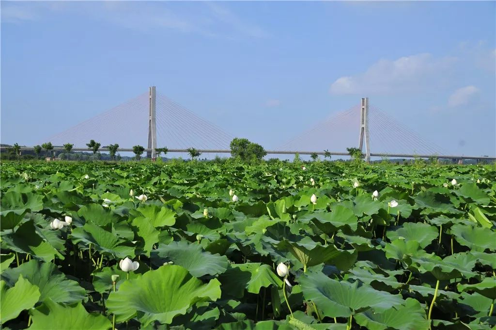
[(41, 306), (31, 310), (33, 330), (107, 330), (112, 323), (103, 315), (88, 313), (81, 303), (64, 305), (45, 300)]

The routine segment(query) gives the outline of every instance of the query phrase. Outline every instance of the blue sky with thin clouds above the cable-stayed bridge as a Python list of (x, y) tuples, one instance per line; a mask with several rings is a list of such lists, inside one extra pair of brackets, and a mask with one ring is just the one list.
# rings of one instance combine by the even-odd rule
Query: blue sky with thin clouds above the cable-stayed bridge
[[(1, 1), (1, 141), (35, 144), (153, 84), (266, 149), (368, 96), (446, 153), (495, 155), (495, 11), (495, 1)], [(358, 133), (343, 125), (326, 149)]]

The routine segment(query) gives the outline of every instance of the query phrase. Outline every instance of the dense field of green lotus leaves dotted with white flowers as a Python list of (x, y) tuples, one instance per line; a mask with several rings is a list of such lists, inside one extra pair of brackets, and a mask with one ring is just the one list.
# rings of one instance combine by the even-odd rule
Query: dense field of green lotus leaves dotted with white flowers
[(3, 329), (494, 329), (494, 165), (1, 165)]

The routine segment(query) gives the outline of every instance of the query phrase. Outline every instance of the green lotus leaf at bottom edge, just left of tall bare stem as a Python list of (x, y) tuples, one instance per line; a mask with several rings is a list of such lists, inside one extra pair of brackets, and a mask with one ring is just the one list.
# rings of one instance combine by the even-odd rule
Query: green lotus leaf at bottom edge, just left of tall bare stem
[(420, 303), (407, 298), (404, 305), (390, 308), (382, 313), (366, 311), (355, 315), (355, 321), (370, 330), (423, 330), (429, 329), (430, 323)]

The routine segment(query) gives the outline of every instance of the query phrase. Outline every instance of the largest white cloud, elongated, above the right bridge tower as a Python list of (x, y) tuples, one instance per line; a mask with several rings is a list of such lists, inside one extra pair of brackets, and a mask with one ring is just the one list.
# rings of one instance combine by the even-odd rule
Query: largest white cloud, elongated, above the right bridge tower
[(434, 58), (431, 54), (379, 60), (363, 74), (338, 78), (330, 87), (332, 94), (387, 94), (411, 91), (425, 84), (440, 83), (442, 75), (456, 61), (453, 57)]

